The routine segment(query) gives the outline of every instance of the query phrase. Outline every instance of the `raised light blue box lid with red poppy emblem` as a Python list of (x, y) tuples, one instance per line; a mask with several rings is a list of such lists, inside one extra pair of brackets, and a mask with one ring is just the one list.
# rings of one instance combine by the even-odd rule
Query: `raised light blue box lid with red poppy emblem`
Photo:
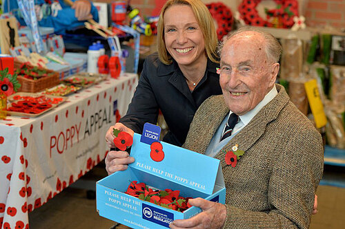
[(214, 192), (216, 178), (217, 185), (224, 187), (219, 160), (166, 142), (146, 144), (140, 139), (135, 133), (130, 150), (135, 162), (130, 167), (208, 195)]

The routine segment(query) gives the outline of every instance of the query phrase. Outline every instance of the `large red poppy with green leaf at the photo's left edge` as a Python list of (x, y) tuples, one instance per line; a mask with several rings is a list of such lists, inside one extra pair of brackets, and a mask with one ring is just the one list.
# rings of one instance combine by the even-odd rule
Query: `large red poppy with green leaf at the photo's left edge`
[(0, 71), (0, 92), (3, 92), (6, 96), (10, 96), (21, 87), (21, 84), (17, 80), (17, 74), (8, 73), (8, 67)]

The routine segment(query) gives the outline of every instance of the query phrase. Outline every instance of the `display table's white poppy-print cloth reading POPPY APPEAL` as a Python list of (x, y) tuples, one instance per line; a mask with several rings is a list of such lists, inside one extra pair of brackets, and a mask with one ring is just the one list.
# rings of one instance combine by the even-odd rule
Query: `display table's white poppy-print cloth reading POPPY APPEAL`
[(28, 212), (105, 158), (106, 131), (126, 113), (137, 82), (123, 74), (37, 118), (0, 120), (0, 228), (28, 228)]

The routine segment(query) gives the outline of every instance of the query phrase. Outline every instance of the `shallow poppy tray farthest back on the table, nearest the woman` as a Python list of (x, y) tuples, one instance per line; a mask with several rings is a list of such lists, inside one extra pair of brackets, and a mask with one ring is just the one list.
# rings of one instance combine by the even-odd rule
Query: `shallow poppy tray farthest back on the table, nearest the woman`
[(67, 85), (86, 88), (105, 80), (106, 77), (107, 75), (104, 74), (81, 73), (65, 78), (63, 82)]

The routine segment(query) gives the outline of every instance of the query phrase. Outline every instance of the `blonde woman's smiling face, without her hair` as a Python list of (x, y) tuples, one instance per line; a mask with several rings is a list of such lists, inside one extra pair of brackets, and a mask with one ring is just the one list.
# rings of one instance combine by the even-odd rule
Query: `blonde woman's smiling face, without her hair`
[(164, 13), (166, 50), (181, 65), (191, 66), (206, 59), (205, 41), (190, 6), (171, 6)]

